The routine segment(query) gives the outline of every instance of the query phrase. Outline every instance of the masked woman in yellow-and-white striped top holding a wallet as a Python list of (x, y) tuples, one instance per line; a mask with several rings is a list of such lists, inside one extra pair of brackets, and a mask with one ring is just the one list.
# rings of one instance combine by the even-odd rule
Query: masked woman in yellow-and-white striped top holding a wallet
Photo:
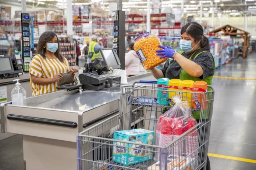
[(29, 74), (32, 95), (42, 95), (56, 91), (61, 73), (77, 72), (69, 69), (69, 63), (60, 53), (59, 40), (54, 32), (44, 32), (38, 41), (36, 54), (30, 62)]

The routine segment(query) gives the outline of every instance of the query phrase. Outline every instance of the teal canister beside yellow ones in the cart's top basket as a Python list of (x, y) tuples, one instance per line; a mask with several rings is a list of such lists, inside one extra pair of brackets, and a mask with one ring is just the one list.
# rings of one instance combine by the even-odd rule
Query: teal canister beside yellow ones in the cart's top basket
[(157, 100), (159, 104), (167, 105), (167, 99), (169, 98), (168, 86), (170, 79), (168, 78), (159, 78), (157, 80)]

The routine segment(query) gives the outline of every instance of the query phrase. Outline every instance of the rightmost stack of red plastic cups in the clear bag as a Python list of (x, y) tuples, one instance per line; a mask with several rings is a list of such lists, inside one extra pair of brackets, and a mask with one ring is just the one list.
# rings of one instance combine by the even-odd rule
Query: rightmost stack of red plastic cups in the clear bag
[[(189, 129), (191, 129), (193, 126), (196, 125), (195, 119), (188, 118), (186, 119), (186, 122), (184, 124), (184, 130), (185, 132)], [(198, 141), (198, 134), (196, 131), (196, 128), (191, 130), (186, 136), (186, 153), (185, 156), (189, 156), (191, 158), (196, 158), (197, 152), (197, 141)], [(193, 153), (192, 153), (193, 152)]]

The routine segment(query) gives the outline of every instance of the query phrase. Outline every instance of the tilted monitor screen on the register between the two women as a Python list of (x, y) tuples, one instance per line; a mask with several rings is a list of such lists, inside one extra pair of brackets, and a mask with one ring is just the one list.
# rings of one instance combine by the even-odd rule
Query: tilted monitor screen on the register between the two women
[(106, 63), (107, 70), (120, 69), (121, 63), (117, 54), (113, 51), (112, 48), (102, 48), (100, 49), (100, 55), (102, 56), (104, 62)]

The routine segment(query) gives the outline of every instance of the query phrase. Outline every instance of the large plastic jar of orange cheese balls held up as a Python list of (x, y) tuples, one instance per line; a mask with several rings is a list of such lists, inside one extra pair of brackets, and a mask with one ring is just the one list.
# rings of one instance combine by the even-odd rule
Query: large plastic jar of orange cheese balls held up
[(161, 49), (158, 45), (161, 45), (161, 42), (150, 32), (135, 38), (134, 50), (145, 70), (153, 69), (167, 60), (167, 58), (160, 59), (160, 56), (156, 55), (156, 50)]

